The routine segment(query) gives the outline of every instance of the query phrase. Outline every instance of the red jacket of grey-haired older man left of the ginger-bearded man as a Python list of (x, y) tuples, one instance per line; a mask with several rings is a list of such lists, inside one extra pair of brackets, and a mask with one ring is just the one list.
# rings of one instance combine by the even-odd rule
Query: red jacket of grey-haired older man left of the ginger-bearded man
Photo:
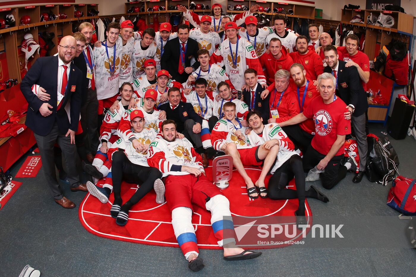
[(296, 94), (295, 92), (293, 92), (292, 87), (290, 85), (287, 87), (286, 91), (283, 93), (282, 98), (280, 98), (282, 94), (280, 92), (275, 91), (274, 82), (269, 87), (267, 87), (267, 89), (270, 91), (270, 98), (269, 98), (270, 118), (272, 118), (271, 110), (275, 110), (276, 106), (277, 106), (277, 112), (279, 113), (279, 117), (276, 118), (277, 123), (289, 120), (293, 116), (300, 113), (299, 105), (297, 104)]

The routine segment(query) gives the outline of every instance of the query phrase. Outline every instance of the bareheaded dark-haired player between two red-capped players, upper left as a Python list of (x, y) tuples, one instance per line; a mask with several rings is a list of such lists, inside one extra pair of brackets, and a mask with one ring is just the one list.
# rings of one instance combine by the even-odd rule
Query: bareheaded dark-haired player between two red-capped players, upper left
[(147, 59), (153, 59), (156, 54), (157, 45), (154, 41), (156, 36), (152, 28), (143, 31), (141, 40), (134, 42), (133, 55), (131, 56), (133, 66), (133, 78), (144, 75), (144, 62)]

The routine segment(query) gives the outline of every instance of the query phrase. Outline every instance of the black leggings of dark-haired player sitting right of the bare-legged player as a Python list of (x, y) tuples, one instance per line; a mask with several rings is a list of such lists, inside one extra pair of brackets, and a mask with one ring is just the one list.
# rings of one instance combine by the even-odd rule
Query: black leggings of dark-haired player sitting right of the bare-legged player
[[(295, 177), (296, 190), (285, 188), (293, 177)], [(277, 168), (270, 177), (267, 191), (271, 199), (299, 199), (298, 212), (305, 213), (305, 174), (302, 158), (299, 155), (293, 155), (280, 168)]]

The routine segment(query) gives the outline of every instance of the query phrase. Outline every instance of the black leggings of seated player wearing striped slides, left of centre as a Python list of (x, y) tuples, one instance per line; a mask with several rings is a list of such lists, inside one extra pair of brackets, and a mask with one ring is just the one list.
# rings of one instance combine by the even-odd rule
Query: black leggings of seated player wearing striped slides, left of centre
[(121, 181), (139, 184), (143, 182), (140, 188), (131, 196), (129, 201), (123, 205), (123, 210), (131, 208), (139, 202), (141, 198), (153, 189), (156, 179), (162, 177), (162, 173), (154, 167), (139, 166), (129, 161), (122, 151), (116, 151), (113, 154), (111, 163), (111, 174), (113, 176), (114, 204), (121, 205)]

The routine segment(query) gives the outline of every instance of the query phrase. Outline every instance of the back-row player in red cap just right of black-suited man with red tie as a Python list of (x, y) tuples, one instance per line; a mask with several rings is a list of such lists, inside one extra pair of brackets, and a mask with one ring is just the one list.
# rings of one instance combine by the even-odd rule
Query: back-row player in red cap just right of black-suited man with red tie
[(201, 28), (193, 28), (189, 31), (189, 37), (198, 42), (199, 49), (207, 49), (210, 55), (217, 49), (221, 42), (218, 33), (210, 30), (211, 20), (209, 15), (203, 15), (201, 17)]

